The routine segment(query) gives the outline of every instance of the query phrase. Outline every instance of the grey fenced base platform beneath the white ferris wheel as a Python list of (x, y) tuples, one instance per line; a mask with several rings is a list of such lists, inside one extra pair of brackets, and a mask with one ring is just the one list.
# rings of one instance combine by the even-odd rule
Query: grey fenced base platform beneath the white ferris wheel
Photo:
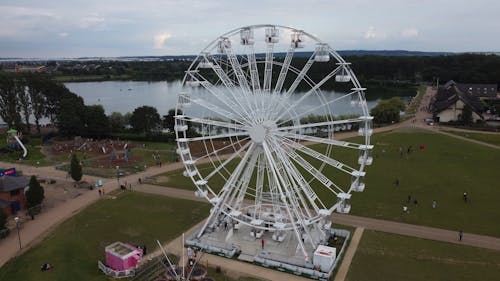
[[(350, 232), (343, 229), (329, 230), (330, 237), (342, 237), (344, 242), (342, 246), (335, 248), (336, 257), (341, 257), (350, 237)], [(264, 232), (261, 238), (255, 238), (251, 235), (250, 226), (240, 226), (238, 230), (233, 228), (224, 229), (224, 227), (213, 229), (211, 232), (204, 233), (200, 238), (196, 238), (196, 232), (193, 236), (186, 239), (186, 246), (196, 248), (205, 253), (217, 255), (225, 258), (236, 259), (242, 262), (253, 263), (270, 269), (287, 272), (294, 275), (303, 276), (316, 280), (329, 280), (332, 272), (339, 264), (339, 259), (335, 258), (331, 264), (321, 266), (313, 262), (313, 256), (320, 247), (313, 249), (306, 243), (306, 249), (310, 253), (310, 259), (305, 260), (302, 252), (298, 248), (293, 233), (285, 233), (285, 238), (281, 241), (273, 239), (273, 232)], [(308, 247), (309, 246), (309, 247)], [(327, 247), (328, 248), (328, 247)]]

